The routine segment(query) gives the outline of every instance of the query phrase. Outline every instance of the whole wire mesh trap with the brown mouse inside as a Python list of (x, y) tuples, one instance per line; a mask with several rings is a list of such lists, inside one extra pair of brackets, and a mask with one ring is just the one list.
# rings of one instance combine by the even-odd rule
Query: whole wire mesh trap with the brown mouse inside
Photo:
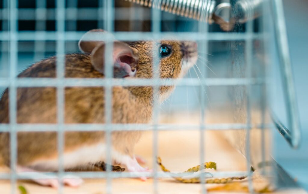
[[(273, 22), (281, 16), (273, 14), (280, 1), (0, 2), (0, 150), (6, 166), (0, 177), (5, 193), (19, 192), (18, 186), (30, 193), (207, 193), (215, 190), (215, 181), (225, 183), (228, 177), (243, 177), (234, 182), (248, 192), (276, 188), (268, 90), (276, 50), (278, 55), (287, 52), (287, 45), (273, 46), (284, 38), (274, 36), (284, 30), (282, 23)], [(107, 33), (84, 36), (92, 29)], [(103, 45), (97, 61), (89, 58), (92, 50), (85, 52), (78, 44), (82, 38)], [(137, 50), (139, 63), (119, 78), (115, 50), (127, 45), (133, 48), (125, 55), (130, 62), (117, 62), (132, 64)], [(104, 65), (87, 69), (87, 60)], [(30, 71), (32, 67), (38, 69)], [(292, 94), (292, 85), (287, 86), (286, 95)], [(292, 110), (292, 95), (288, 99)], [(294, 130), (274, 121), (296, 147), (296, 115), (290, 123)], [(132, 142), (141, 133), (134, 149)], [(123, 162), (135, 160), (133, 150), (152, 171), (133, 170), (127, 163), (131, 160)], [(181, 184), (171, 178), (178, 174), (160, 170), (157, 156), (171, 172), (206, 161), (216, 162), (217, 169), (184, 173), (183, 180), (201, 184)], [(101, 162), (127, 169), (93, 167)], [(150, 179), (141, 182), (138, 177)], [(80, 178), (85, 182), (79, 188), (65, 186), (65, 180)], [(57, 189), (23, 181), (27, 179), (41, 184), (39, 180), (53, 180)]]

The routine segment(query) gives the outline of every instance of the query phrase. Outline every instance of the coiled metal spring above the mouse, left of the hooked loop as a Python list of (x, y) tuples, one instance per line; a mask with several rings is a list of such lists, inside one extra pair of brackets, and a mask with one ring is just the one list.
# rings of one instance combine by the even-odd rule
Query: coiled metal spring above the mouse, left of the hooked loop
[(126, 0), (211, 24), (215, 0)]

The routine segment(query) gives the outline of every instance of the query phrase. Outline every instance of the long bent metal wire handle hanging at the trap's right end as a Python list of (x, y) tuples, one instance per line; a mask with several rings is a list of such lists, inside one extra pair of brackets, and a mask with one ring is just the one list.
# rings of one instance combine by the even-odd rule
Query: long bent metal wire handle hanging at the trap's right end
[(287, 122), (290, 129), (286, 128), (273, 113), (272, 120), (278, 132), (285, 138), (290, 146), (292, 148), (298, 148), (301, 139), (301, 131), (282, 0), (272, 0), (272, 10), (278, 57), (280, 60), (280, 72), (285, 96)]

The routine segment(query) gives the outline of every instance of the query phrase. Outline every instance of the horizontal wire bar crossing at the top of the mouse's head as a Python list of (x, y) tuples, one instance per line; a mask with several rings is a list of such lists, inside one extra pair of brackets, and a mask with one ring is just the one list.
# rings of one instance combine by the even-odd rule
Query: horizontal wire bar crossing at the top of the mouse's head
[[(80, 38), (86, 32), (65, 32), (61, 37), (57, 37), (61, 32), (46, 32), (46, 31), (19, 31), (16, 32), (16, 38), (18, 41), (79, 41)], [(171, 40), (209, 40), (209, 41), (230, 41), (230, 40), (245, 40), (245, 39), (262, 39), (264, 35), (262, 33), (219, 33), (219, 32), (208, 32), (207, 36), (198, 32), (113, 32), (112, 33), (116, 40), (119, 41), (159, 41), (161, 39)], [(266, 35), (266, 34), (265, 34)], [(9, 41), (10, 33), (6, 31), (0, 32), (1, 41)], [(87, 39), (85, 39), (87, 40)], [(108, 37), (99, 37), (97, 39), (90, 40), (101, 40), (107, 41)]]

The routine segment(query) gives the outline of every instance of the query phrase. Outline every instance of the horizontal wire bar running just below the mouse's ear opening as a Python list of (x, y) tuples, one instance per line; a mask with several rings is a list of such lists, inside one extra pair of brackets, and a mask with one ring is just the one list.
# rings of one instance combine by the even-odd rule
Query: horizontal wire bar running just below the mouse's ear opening
[[(114, 79), (114, 78), (65, 78), (63, 87), (99, 87), (106, 84), (111, 86), (231, 86), (231, 85), (259, 85), (264, 83), (262, 78), (198, 78), (186, 79)], [(0, 87), (8, 87), (10, 80), (0, 78)], [(16, 87), (57, 87), (55, 78), (18, 78)]]

